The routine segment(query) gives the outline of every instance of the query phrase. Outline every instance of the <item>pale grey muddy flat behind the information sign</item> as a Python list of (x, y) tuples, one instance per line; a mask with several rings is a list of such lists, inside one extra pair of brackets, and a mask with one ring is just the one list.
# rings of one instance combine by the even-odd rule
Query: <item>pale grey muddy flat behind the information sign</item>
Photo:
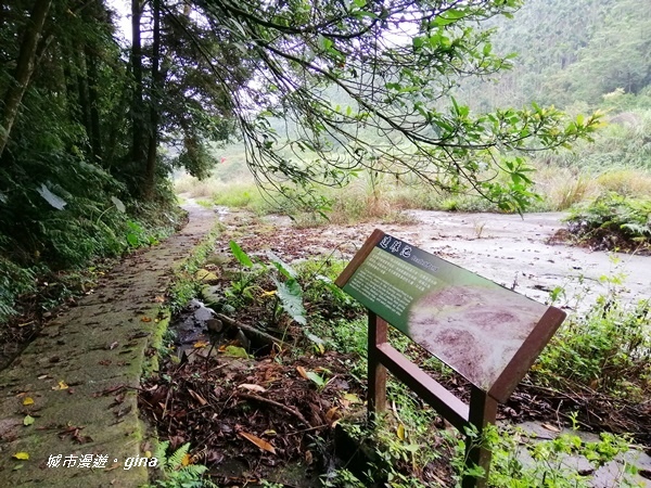
[[(584, 309), (609, 286), (602, 277), (624, 275), (623, 297), (651, 297), (651, 256), (591, 252), (549, 244), (564, 228), (564, 214), (450, 214), (411, 210), (414, 223), (329, 226), (316, 233), (320, 252), (337, 248), (348, 258), (374, 228), (433, 253), (536, 300), (545, 301), (556, 286), (565, 290), (560, 305)], [(275, 226), (289, 219), (271, 218)], [(303, 231), (310, 233), (309, 230)]]

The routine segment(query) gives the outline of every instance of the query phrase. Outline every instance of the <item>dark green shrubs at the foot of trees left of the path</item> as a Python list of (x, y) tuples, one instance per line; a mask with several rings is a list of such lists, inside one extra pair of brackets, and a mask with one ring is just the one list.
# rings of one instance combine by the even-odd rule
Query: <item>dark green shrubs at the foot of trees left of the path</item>
[(0, 168), (0, 322), (16, 311), (20, 295), (36, 291), (35, 275), (56, 281), (56, 271), (170, 232), (179, 213), (171, 193), (157, 190), (155, 203), (140, 203), (107, 170), (56, 151)]

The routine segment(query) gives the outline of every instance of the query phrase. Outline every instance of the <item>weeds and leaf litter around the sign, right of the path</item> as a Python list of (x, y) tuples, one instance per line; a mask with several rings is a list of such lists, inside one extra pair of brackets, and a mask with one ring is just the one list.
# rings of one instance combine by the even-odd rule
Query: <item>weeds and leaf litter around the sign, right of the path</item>
[[(250, 222), (242, 227), (251, 229)], [(279, 474), (291, 472), (290, 466), (328, 487), (458, 486), (469, 468), (463, 438), (446, 429), (407, 387), (390, 381), (387, 414), (367, 424), (366, 312), (333, 284), (345, 262), (314, 256), (289, 264), (264, 251), (270, 230), (242, 246), (227, 244), (238, 232), (219, 237), (215, 248), (225, 251), (208, 255), (206, 269), (214, 270), (209, 264), (218, 260), (220, 272), (201, 284), (203, 300), (225, 329), (190, 344), (183, 355), (170, 338), (169, 356), (141, 393), (141, 407), (159, 436), (171, 440), (165, 445), (170, 455), (178, 449), (186, 453), (189, 442), (188, 462), (206, 466), (196, 470), (196, 485), (189, 486), (202, 486), (206, 476), (219, 486), (231, 483), (219, 468), (224, 459), (237, 465), (243, 461), (242, 466), (257, 460), (247, 473), (261, 486), (295, 483)], [(621, 304), (624, 277), (603, 280), (609, 292), (588, 312), (567, 320), (500, 408), (507, 420), (547, 425), (549, 438), (509, 423), (474, 437), (494, 453), (489, 486), (587, 488), (595, 472), (615, 458), (613, 486), (638, 486), (635, 467), (622, 455), (631, 445), (651, 440), (646, 423), (650, 304)], [(549, 300), (572, 298), (557, 288)], [(265, 337), (260, 342), (247, 329), (235, 333), (242, 324)], [(463, 378), (400, 333), (392, 331), (391, 342), (468, 399)], [(159, 398), (165, 409), (157, 406)], [(175, 416), (177, 409), (188, 414)], [(586, 439), (578, 429), (601, 434)], [(567, 462), (570, 455), (585, 464), (578, 468)], [(173, 470), (167, 479), (180, 473)], [(187, 476), (188, 470), (182, 473)], [(169, 483), (161, 486), (180, 486)]]

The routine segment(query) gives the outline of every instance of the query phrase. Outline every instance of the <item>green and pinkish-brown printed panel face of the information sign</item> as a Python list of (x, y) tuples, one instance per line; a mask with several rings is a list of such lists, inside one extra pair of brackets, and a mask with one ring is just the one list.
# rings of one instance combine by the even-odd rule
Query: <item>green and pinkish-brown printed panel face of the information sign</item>
[(388, 234), (353, 268), (345, 292), (484, 390), (549, 308)]

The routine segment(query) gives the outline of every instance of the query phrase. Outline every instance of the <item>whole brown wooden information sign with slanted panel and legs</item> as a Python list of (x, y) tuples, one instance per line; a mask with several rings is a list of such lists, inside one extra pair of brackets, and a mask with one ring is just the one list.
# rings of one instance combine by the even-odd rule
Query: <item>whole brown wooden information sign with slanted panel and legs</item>
[[(369, 310), (369, 414), (385, 410), (386, 371), (409, 386), (460, 432), (478, 434), (565, 319), (565, 312), (505, 288), (451, 262), (373, 231), (336, 284)], [(396, 328), (472, 384), (470, 403), (405, 358), (387, 342)], [(467, 438), (467, 463), (484, 477), (490, 452)]]

